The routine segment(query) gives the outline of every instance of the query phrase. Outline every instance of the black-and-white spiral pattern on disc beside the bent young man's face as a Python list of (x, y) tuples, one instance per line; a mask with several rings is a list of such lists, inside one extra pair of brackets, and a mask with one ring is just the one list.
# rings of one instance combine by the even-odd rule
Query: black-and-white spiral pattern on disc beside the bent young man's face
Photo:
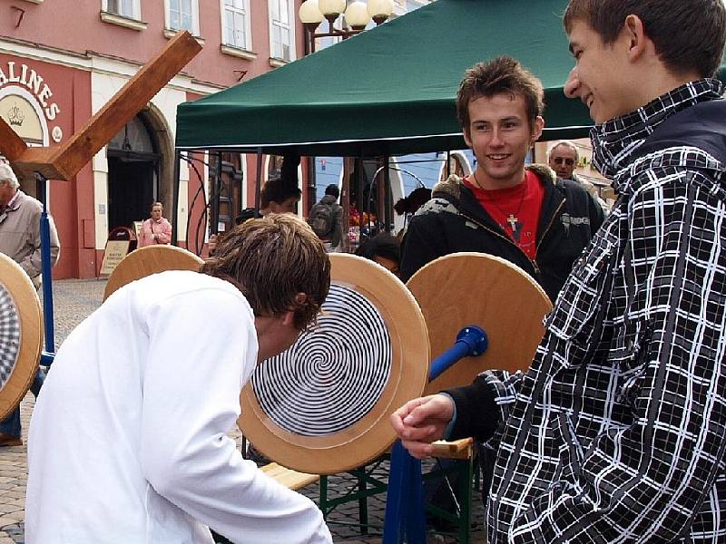
[(391, 341), (376, 306), (337, 284), (318, 326), (252, 374), (262, 410), (282, 429), (325, 436), (347, 429), (378, 401), (391, 370)]

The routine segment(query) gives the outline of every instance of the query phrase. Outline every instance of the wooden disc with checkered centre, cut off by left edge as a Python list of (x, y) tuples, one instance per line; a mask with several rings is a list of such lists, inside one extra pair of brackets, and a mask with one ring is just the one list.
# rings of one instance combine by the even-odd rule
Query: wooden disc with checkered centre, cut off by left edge
[(0, 419), (23, 400), (42, 348), (43, 312), (33, 282), (0, 253)]

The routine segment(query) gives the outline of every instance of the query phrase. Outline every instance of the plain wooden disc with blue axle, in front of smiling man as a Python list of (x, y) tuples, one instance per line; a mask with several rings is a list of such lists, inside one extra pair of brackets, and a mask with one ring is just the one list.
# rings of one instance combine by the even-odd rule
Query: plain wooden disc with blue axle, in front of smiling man
[(542, 320), (552, 310), (544, 289), (524, 270), (484, 253), (452, 253), (421, 268), (408, 280), (428, 325), (431, 356), (451, 347), (467, 325), (483, 328), (489, 346), (466, 357), (427, 385), (426, 394), (468, 385), (496, 368), (529, 368), (544, 335)]

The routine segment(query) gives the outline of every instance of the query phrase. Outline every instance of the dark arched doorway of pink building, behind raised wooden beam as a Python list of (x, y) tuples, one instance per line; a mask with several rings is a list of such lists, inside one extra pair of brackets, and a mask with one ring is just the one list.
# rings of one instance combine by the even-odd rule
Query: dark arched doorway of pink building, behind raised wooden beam
[[(159, 199), (162, 154), (150, 122), (139, 114), (109, 142), (108, 228), (132, 228), (133, 221), (149, 217)], [(169, 208), (168, 206), (166, 207)]]

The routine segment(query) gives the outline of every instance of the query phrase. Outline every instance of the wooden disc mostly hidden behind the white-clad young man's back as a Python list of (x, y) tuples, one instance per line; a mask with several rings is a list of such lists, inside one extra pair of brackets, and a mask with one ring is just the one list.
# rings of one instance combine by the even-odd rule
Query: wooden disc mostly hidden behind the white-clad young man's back
[(133, 250), (108, 277), (103, 300), (126, 284), (166, 270), (199, 270), (204, 260), (175, 246), (155, 245)]

